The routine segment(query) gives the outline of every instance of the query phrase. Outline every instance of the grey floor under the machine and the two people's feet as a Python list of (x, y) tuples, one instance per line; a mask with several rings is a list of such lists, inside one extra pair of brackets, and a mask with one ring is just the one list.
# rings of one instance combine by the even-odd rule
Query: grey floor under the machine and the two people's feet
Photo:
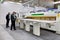
[(60, 35), (46, 30), (41, 30), (41, 36), (37, 37), (32, 33), (19, 29), (19, 27), (15, 31), (5, 28), (5, 25), (2, 25), (2, 27), (16, 40), (60, 40)]

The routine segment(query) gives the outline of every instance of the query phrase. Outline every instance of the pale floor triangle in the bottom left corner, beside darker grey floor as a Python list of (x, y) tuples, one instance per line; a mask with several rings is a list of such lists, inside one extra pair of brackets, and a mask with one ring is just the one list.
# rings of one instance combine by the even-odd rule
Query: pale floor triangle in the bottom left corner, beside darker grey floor
[(15, 40), (15, 39), (0, 25), (0, 40)]

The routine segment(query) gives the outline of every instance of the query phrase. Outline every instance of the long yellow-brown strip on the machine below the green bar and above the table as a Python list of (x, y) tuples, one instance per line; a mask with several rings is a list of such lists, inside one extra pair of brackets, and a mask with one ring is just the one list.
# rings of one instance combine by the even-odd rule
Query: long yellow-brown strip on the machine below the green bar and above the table
[(27, 16), (27, 19), (37, 19), (37, 20), (56, 20), (56, 16)]

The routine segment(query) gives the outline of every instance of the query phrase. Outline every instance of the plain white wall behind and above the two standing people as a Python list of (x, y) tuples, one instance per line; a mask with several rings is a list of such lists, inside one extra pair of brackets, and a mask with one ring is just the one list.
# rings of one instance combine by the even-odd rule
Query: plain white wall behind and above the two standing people
[(17, 13), (19, 13), (20, 10), (22, 10), (22, 5), (21, 4), (16, 4), (16, 3), (3, 3), (0, 5), (0, 24), (5, 24), (6, 23), (6, 14), (8, 12), (13, 12), (16, 11)]

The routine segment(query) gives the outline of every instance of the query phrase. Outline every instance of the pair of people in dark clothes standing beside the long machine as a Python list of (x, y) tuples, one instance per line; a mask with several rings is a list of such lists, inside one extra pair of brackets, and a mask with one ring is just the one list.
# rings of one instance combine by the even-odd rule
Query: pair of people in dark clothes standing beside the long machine
[(12, 29), (16, 30), (16, 27), (15, 27), (16, 18), (17, 18), (16, 12), (13, 12), (12, 14), (10, 14), (10, 12), (8, 12), (8, 14), (6, 15), (6, 28), (9, 27), (9, 21), (11, 20), (10, 30), (12, 30)]

